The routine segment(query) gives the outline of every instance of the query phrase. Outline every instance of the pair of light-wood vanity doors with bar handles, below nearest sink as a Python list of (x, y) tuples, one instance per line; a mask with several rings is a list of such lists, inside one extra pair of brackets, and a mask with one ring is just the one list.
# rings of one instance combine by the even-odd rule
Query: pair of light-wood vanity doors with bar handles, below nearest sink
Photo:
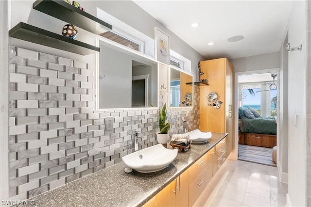
[(188, 207), (189, 206), (189, 170), (179, 175), (150, 199), (144, 207)]

